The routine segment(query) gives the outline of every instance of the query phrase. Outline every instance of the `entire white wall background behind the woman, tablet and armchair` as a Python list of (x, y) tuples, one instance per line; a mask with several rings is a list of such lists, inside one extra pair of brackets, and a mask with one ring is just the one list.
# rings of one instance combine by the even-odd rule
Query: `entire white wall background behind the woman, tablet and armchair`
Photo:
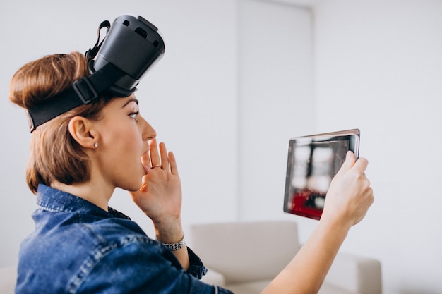
[[(44, 54), (88, 49), (102, 20), (131, 13), (165, 37), (165, 58), (141, 82), (138, 97), (177, 155), (185, 225), (294, 219), (305, 240), (316, 221), (282, 214), (288, 139), (357, 127), (376, 201), (342, 250), (381, 259), (384, 293), (440, 293), (442, 1), (285, 2), (311, 7), (253, 0), (2, 2), (0, 266), (16, 262), (35, 207), (23, 177), (28, 125), (6, 98), (11, 75)], [(300, 116), (289, 119), (293, 128), (291, 109)], [(125, 192), (117, 191), (112, 204), (150, 232)]]

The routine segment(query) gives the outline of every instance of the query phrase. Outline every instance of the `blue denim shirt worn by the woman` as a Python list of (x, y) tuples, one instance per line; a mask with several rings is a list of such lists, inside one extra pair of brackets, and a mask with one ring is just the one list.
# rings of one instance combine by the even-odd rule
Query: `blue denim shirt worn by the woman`
[(35, 231), (20, 245), (16, 294), (198, 293), (229, 290), (199, 280), (207, 271), (190, 250), (190, 267), (148, 238), (127, 216), (39, 185)]

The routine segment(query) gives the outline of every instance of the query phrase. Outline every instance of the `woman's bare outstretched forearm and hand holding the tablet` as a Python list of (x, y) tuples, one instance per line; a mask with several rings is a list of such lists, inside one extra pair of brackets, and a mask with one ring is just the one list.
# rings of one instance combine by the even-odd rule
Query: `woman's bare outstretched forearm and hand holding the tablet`
[(317, 293), (350, 228), (374, 201), (364, 171), (368, 161), (349, 152), (325, 197), (321, 220), (301, 250), (262, 294)]

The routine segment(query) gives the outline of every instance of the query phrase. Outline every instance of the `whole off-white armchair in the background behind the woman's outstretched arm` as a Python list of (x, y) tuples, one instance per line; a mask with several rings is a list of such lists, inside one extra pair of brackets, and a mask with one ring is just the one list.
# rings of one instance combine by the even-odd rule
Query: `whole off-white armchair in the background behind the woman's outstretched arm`
[[(189, 245), (209, 271), (205, 283), (235, 294), (258, 294), (296, 255), (297, 223), (261, 221), (195, 224)], [(381, 294), (381, 263), (338, 253), (320, 294)]]

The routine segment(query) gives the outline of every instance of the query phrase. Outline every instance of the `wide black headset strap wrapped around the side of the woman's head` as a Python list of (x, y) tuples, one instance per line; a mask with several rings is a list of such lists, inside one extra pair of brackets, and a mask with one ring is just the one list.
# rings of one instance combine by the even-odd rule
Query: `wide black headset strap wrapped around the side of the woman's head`
[(88, 77), (73, 82), (72, 87), (28, 109), (30, 131), (77, 106), (88, 104), (117, 82), (125, 73), (112, 63)]

